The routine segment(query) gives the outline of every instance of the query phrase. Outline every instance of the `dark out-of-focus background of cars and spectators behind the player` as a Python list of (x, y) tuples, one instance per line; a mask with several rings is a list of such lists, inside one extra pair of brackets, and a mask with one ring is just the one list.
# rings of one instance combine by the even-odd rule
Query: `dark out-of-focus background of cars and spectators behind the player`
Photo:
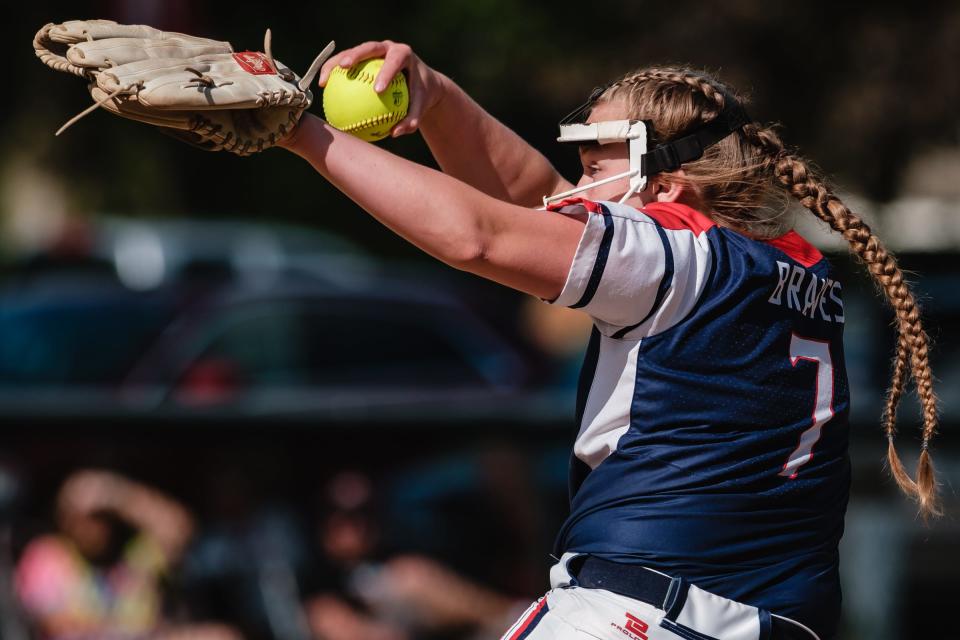
[[(0, 638), (497, 638), (547, 588), (566, 513), (583, 318), (430, 261), (283, 151), (207, 154), (105, 113), (55, 139), (89, 98), (30, 42), (94, 17), (254, 50), (271, 27), (294, 69), (330, 39), (406, 41), (574, 180), (555, 123), (594, 86), (652, 62), (719, 71), (916, 286), (943, 419), (929, 527), (883, 469), (890, 314), (799, 216), (850, 319), (842, 637), (943, 637), (960, 4), (48, 0), (0, 26)], [(383, 144), (431, 163), (419, 138)], [(911, 463), (916, 416), (908, 398)]]

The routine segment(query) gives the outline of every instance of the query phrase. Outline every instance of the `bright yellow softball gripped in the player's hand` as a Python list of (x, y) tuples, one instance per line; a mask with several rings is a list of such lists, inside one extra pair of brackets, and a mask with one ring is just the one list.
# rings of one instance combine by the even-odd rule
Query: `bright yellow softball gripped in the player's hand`
[(373, 90), (383, 58), (357, 63), (349, 69), (334, 67), (323, 90), (323, 113), (331, 125), (363, 140), (385, 138), (393, 125), (407, 115), (410, 96), (403, 73), (382, 92)]

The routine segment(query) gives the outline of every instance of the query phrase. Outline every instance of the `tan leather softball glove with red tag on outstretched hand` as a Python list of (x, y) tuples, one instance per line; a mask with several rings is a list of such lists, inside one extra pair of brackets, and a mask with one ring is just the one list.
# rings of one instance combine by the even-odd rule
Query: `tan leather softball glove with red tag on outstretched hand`
[(264, 52), (234, 52), (229, 42), (112, 20), (44, 26), (33, 40), (47, 66), (89, 81), (94, 104), (64, 129), (103, 107), (162, 127), (210, 151), (262, 151), (296, 127), (313, 94), (310, 84), (333, 52), (328, 44), (299, 77)]

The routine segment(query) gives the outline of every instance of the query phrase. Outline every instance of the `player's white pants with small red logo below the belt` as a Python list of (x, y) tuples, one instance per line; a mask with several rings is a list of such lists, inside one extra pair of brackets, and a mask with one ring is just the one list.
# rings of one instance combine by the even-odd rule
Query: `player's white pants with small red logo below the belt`
[[(603, 589), (574, 586), (564, 554), (550, 571), (545, 596), (534, 602), (502, 640), (762, 640), (769, 637), (756, 607), (689, 586), (686, 600), (670, 618), (667, 612)], [(778, 617), (778, 616), (777, 616)], [(671, 619), (672, 618), (672, 619)], [(786, 619), (781, 618), (786, 621)], [(794, 621), (787, 621), (816, 635)]]

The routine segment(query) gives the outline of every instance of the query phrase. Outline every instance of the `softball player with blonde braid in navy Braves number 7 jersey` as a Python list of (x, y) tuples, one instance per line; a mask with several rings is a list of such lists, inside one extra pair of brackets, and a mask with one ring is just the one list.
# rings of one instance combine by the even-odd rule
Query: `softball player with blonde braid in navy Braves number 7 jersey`
[[(443, 172), (313, 117), (283, 146), (424, 251), (594, 323), (553, 588), (504, 638), (834, 637), (843, 286), (769, 204), (789, 194), (842, 233), (896, 310), (889, 462), (932, 515), (927, 339), (880, 240), (706, 75), (649, 68), (595, 91), (560, 126), (583, 164), (574, 186), (406, 45), (342, 52), (320, 83), (382, 56), (380, 86), (401, 69), (411, 85), (394, 135), (419, 129)], [(924, 417), (916, 481), (893, 447), (908, 374)]]

